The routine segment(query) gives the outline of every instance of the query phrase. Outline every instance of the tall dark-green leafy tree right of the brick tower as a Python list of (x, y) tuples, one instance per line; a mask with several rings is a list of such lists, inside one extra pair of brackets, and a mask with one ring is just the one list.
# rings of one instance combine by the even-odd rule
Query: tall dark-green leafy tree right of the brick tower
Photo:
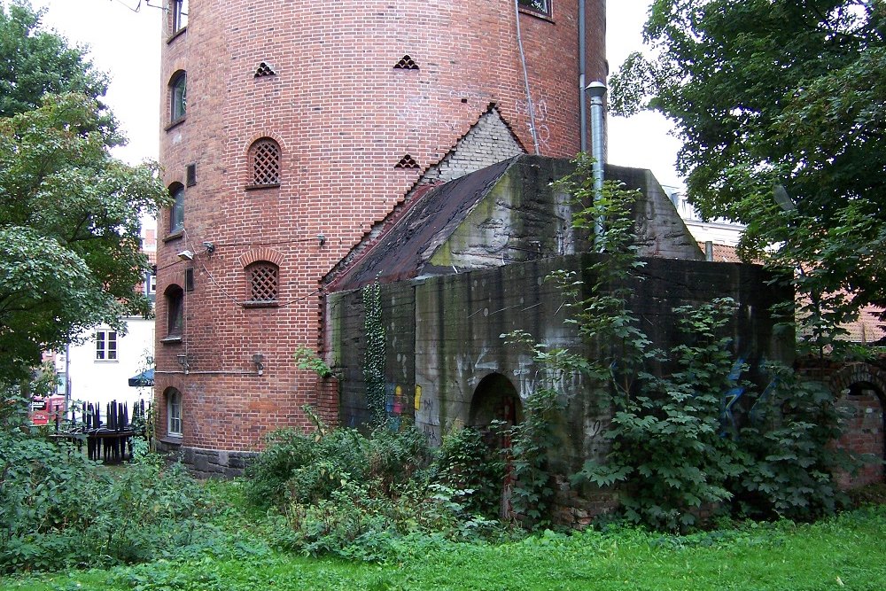
[[(676, 123), (688, 198), (805, 295), (808, 333), (886, 303), (882, 0), (655, 0), (614, 76), (620, 113)], [(796, 273), (795, 273), (796, 271)]]

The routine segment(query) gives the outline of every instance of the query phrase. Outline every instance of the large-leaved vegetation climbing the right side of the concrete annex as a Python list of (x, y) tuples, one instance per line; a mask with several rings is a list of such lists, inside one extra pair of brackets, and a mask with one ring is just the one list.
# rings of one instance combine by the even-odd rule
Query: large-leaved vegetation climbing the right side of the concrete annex
[[(587, 297), (572, 273), (549, 279), (560, 286), (569, 322), (595, 351), (593, 360), (534, 343), (525, 333), (503, 335), (529, 346), (550, 376), (580, 373), (594, 380), (602, 406), (610, 406), (604, 433), (609, 451), (588, 460), (571, 475), (572, 483), (614, 489), (618, 515), (670, 531), (724, 512), (802, 519), (832, 513), (844, 501), (834, 472), (854, 466), (829, 447), (839, 434), (833, 395), (776, 366), (760, 368), (771, 381), (762, 392), (742, 382), (750, 368), (732, 352), (731, 299), (676, 308), (679, 344), (669, 351), (654, 348), (630, 305), (642, 265), (630, 215), (636, 193), (612, 184), (596, 191), (590, 162), (579, 159), (577, 165), (563, 187), (585, 207), (575, 218), (579, 228), (605, 219), (605, 231), (596, 237), (605, 255), (591, 269), (595, 284)], [(541, 388), (531, 400), (552, 395)], [(547, 445), (543, 436), (527, 440)], [(537, 473), (518, 479), (515, 497), (543, 479)]]

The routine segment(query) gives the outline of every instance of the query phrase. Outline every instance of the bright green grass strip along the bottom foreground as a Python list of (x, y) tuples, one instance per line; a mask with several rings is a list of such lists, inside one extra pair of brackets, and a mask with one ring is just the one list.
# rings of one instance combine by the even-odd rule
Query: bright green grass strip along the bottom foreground
[[(236, 520), (235, 520), (236, 521)], [(229, 524), (230, 525), (230, 524)], [(582, 589), (693, 591), (886, 587), (886, 507), (812, 525), (742, 525), (675, 537), (635, 530), (546, 533), (500, 545), (410, 540), (400, 562), (292, 556), (245, 532), (204, 556), (0, 579), (0, 588), (107, 591)], [(423, 541), (424, 540), (424, 541)]]

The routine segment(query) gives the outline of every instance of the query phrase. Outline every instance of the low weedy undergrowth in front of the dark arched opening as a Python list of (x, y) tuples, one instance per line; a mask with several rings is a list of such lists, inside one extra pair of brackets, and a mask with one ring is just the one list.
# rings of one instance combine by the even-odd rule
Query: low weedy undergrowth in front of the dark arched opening
[(276, 509), (275, 544), (308, 554), (384, 561), (418, 533), (473, 539), (501, 528), (491, 517), (503, 459), (469, 429), (447, 436), (434, 459), (413, 428), (366, 436), (317, 422), (272, 435), (247, 475), (247, 498)]

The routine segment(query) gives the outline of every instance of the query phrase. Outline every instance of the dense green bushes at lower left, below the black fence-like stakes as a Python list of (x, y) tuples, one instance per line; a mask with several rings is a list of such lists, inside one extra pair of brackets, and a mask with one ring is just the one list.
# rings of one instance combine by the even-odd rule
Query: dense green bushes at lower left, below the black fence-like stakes
[(5, 397), (0, 450), (0, 572), (156, 560), (211, 531), (212, 506), (183, 467), (142, 454), (108, 470), (27, 426), (25, 398)]

